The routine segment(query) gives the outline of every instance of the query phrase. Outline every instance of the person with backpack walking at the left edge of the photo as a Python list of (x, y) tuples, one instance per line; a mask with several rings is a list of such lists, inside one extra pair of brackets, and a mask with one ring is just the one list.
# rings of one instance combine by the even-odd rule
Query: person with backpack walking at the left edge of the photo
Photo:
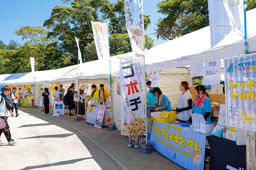
[[(0, 137), (1, 137), (2, 133), (4, 132), (4, 135), (8, 141), (8, 145), (12, 145), (17, 142), (12, 139), (10, 127), (7, 122), (8, 111), (11, 113), (12, 116), (14, 116), (14, 114), (12, 113), (12, 110), (11, 110), (13, 105), (12, 105), (11, 100), (8, 97), (10, 92), (11, 92), (11, 87), (9, 87), (8, 85), (5, 85), (2, 88), (2, 93), (0, 95), (0, 118), (4, 120), (5, 125), (6, 125), (4, 128), (0, 129)], [(5, 144), (5, 143), (0, 140), (0, 144)]]

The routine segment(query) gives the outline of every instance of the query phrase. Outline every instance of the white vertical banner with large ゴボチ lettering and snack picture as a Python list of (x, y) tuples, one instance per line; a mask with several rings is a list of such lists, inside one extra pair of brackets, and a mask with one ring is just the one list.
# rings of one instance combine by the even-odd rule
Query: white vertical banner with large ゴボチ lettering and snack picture
[(145, 133), (144, 74), (142, 58), (120, 59), (121, 135)]

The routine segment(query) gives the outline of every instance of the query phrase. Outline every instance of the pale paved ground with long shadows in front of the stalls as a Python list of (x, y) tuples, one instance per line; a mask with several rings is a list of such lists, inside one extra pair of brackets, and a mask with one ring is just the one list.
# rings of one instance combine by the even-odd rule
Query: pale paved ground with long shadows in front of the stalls
[(157, 152), (141, 154), (128, 148), (129, 140), (119, 130), (109, 132), (85, 122), (74, 122), (74, 116), (43, 115), (29, 107), (18, 107), (19, 116), (8, 122), (12, 138), (7, 145), (4, 134), (0, 145), (0, 170), (139, 170), (184, 168)]

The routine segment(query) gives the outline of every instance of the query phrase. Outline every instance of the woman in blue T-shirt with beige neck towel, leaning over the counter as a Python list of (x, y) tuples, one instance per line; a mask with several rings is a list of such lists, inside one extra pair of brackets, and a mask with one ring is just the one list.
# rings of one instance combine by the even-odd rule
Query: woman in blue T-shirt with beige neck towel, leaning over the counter
[(170, 100), (162, 93), (159, 87), (154, 87), (153, 94), (156, 96), (155, 105), (148, 105), (148, 107), (156, 108), (155, 111), (172, 112)]

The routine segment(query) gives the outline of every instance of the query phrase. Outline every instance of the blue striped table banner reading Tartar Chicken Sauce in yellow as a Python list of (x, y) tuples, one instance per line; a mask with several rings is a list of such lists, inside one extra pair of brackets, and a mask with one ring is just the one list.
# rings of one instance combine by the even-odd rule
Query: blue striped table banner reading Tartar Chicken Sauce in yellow
[(190, 127), (154, 121), (150, 142), (168, 159), (188, 169), (204, 169), (205, 137)]

